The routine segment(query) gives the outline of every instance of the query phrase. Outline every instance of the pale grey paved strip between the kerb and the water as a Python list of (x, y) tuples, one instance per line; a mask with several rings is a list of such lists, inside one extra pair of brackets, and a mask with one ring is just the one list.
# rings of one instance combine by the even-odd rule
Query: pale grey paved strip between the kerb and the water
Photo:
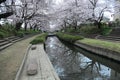
[[(43, 45), (34, 46), (36, 46), (36, 49), (30, 49), (28, 52), (19, 80), (60, 80), (43, 49)], [(38, 73), (33, 76), (27, 75), (28, 64), (35, 61), (38, 65)]]

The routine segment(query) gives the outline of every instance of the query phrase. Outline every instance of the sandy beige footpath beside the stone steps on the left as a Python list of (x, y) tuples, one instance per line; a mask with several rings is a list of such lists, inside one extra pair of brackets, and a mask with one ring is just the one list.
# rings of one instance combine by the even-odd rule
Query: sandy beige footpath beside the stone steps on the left
[(0, 80), (14, 80), (29, 42), (36, 36), (16, 42), (10, 47), (0, 51)]

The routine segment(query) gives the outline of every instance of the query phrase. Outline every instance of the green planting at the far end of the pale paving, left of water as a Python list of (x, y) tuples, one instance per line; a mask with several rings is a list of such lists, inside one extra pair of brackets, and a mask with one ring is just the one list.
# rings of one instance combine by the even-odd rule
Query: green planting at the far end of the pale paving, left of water
[(39, 44), (45, 42), (45, 37), (47, 36), (46, 33), (41, 34), (40, 36), (36, 37), (34, 40), (30, 42), (30, 44)]

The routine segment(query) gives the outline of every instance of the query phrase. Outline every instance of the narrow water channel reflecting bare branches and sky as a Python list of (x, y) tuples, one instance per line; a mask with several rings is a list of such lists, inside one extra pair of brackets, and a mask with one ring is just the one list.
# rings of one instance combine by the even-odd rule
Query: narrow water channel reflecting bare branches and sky
[(120, 80), (120, 63), (48, 37), (46, 52), (61, 80)]

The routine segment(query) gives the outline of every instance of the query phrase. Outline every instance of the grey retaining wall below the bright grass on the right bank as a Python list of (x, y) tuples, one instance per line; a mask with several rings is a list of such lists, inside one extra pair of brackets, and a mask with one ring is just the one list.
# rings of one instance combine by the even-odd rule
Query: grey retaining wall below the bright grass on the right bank
[(81, 42), (78, 42), (78, 41), (75, 42), (74, 45), (76, 45), (80, 48), (83, 48), (87, 51), (93, 52), (94, 54), (101, 55), (101, 56), (104, 56), (106, 58), (113, 59), (115, 61), (120, 62), (120, 58), (119, 58), (120, 53), (118, 53), (116, 51), (112, 51), (112, 50), (101, 48), (101, 47), (91, 46), (91, 45), (81, 43)]

